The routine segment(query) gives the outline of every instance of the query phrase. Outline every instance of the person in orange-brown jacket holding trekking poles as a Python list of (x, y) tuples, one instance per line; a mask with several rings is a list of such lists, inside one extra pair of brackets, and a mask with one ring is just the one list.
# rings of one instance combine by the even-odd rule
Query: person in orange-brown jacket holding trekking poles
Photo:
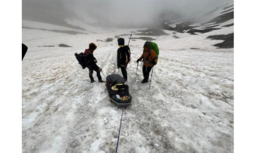
[(152, 49), (151, 43), (146, 41), (143, 46), (143, 53), (140, 58), (137, 60), (137, 63), (143, 60), (143, 81), (141, 83), (148, 83), (149, 73), (151, 72), (152, 67), (157, 64), (157, 55), (155, 54), (155, 50)]

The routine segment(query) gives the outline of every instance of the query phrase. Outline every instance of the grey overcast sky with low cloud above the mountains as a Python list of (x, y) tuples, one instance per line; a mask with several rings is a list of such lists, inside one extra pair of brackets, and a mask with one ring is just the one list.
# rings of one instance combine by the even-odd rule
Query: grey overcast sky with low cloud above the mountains
[(232, 0), (23, 0), (23, 19), (57, 22), (79, 18), (105, 25), (147, 25), (165, 11), (199, 16)]

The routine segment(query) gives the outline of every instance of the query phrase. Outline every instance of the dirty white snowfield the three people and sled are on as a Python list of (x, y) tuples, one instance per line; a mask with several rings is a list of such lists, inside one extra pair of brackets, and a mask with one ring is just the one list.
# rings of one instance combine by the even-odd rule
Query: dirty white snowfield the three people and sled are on
[[(145, 29), (72, 35), (30, 26), (23, 29), (29, 47), (23, 59), (23, 152), (115, 152), (122, 110), (110, 103), (104, 84), (90, 83), (74, 53), (95, 42), (103, 73), (121, 75), (116, 38), (124, 35), (127, 44), (130, 32)], [(141, 63), (135, 81), (136, 60), (149, 36), (133, 35), (127, 67), (133, 100), (124, 111), (118, 152), (233, 152), (233, 49), (216, 49), (213, 44), (222, 41), (206, 39), (232, 29), (150, 36), (160, 48), (151, 89), (140, 83)]]

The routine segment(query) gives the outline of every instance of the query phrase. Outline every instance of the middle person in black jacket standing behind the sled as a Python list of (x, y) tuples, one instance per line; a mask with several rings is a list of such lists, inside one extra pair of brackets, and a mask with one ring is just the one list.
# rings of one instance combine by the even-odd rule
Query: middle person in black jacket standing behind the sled
[(117, 50), (117, 67), (121, 69), (124, 80), (127, 81), (127, 64), (130, 61), (130, 48), (129, 46), (124, 46), (124, 38), (118, 38), (118, 46)]

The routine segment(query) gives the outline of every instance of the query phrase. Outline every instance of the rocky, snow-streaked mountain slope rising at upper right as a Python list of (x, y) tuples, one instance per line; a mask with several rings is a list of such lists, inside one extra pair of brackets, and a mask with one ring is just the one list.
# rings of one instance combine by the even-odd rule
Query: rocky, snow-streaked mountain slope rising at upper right
[[(212, 39), (221, 39), (224, 42), (215, 44), (219, 48), (233, 48), (233, 4), (222, 5), (205, 15), (193, 16), (190, 18), (179, 19), (178, 21), (166, 21), (163, 18), (162, 29), (174, 30), (180, 33), (190, 33), (191, 35), (200, 35), (202, 33), (218, 30), (216, 35), (207, 36)], [(192, 17), (193, 16), (193, 17)], [(228, 28), (227, 28), (228, 27)], [(230, 28), (231, 27), (231, 28)], [(222, 33), (219, 33), (222, 29)], [(208, 34), (207, 34), (208, 35)]]

